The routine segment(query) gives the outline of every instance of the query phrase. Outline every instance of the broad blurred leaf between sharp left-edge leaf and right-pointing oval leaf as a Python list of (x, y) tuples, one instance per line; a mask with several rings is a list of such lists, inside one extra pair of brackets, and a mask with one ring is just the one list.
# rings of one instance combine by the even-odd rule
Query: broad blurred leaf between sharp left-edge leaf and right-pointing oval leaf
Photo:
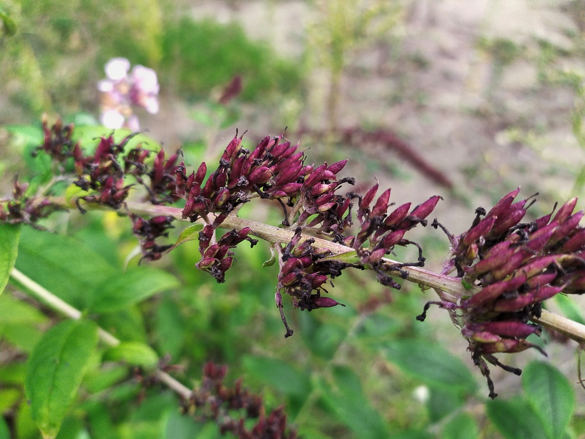
[(16, 268), (78, 309), (120, 273), (84, 242), (32, 228), (22, 230)]

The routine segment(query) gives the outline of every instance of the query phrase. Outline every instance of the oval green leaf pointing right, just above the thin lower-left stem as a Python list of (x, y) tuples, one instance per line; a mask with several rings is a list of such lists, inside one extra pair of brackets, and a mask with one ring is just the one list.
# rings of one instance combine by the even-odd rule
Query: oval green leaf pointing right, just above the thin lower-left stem
[(89, 308), (96, 313), (121, 310), (177, 286), (177, 278), (170, 273), (151, 267), (135, 267), (113, 279), (106, 279), (98, 286)]

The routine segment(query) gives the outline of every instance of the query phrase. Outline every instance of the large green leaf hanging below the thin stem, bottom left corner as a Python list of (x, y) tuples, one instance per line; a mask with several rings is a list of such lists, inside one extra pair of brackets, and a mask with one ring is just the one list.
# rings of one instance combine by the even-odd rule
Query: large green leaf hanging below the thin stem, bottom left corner
[(97, 344), (94, 322), (68, 320), (47, 331), (30, 355), (26, 397), (44, 437), (57, 435)]

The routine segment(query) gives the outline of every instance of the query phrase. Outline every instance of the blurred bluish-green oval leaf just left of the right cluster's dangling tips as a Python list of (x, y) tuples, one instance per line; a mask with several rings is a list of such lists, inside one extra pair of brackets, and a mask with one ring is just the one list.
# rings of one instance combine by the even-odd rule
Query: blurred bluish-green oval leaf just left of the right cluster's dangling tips
[(445, 348), (424, 339), (391, 341), (383, 349), (402, 372), (433, 387), (473, 393), (477, 383), (469, 368)]

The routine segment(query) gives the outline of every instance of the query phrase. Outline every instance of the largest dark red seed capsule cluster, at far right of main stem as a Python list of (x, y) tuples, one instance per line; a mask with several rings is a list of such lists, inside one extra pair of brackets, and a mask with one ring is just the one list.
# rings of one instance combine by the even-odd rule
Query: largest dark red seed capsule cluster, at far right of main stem
[[(503, 365), (494, 354), (528, 348), (545, 354), (526, 340), (541, 333), (529, 320), (539, 317), (542, 302), (555, 294), (585, 292), (585, 229), (579, 227), (583, 212), (573, 213), (576, 198), (554, 217), (552, 212), (521, 223), (534, 201), (529, 197), (514, 203), (518, 193), (519, 188), (507, 194), (487, 213), (477, 209), (472, 227), (450, 236), (454, 257), (445, 272), (456, 269), (466, 284), (481, 289), (453, 301), (434, 302), (451, 310), (469, 341), (474, 363), (488, 380), (490, 397), (496, 393), (486, 361), (519, 375), (519, 369)], [(431, 303), (419, 320), (424, 320)]]

